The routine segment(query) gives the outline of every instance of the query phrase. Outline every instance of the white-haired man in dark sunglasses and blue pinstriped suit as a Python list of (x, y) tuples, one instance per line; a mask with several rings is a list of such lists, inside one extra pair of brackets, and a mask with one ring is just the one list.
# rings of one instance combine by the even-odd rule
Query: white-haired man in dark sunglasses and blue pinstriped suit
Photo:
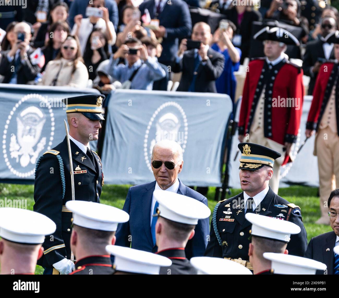
[[(155, 224), (158, 202), (153, 196), (154, 190), (172, 191), (194, 198), (207, 206), (207, 199), (198, 192), (185, 186), (178, 174), (182, 170), (182, 149), (174, 141), (157, 143), (152, 152), (152, 170), (156, 181), (136, 185), (128, 190), (123, 210), (129, 214), (129, 221), (119, 224), (116, 245), (157, 252)], [(194, 237), (187, 242), (186, 258), (203, 256), (209, 235), (208, 218), (199, 219)]]

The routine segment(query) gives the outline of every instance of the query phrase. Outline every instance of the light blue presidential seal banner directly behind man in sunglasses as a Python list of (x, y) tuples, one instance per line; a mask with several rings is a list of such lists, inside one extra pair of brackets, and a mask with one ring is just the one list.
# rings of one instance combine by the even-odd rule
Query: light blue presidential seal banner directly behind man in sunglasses
[(183, 150), (185, 185), (221, 186), (224, 137), (232, 101), (216, 93), (118, 89), (108, 103), (102, 162), (105, 183), (154, 180), (153, 146), (174, 140)]

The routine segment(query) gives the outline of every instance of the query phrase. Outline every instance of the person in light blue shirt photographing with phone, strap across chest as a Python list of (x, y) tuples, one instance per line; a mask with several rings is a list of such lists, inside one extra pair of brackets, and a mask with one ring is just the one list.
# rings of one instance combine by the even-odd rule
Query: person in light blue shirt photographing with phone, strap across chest
[[(119, 58), (124, 58), (126, 63), (118, 64)], [(136, 90), (152, 90), (153, 82), (166, 76), (157, 59), (148, 55), (146, 45), (136, 38), (127, 39), (111, 56), (108, 73), (123, 88)]]

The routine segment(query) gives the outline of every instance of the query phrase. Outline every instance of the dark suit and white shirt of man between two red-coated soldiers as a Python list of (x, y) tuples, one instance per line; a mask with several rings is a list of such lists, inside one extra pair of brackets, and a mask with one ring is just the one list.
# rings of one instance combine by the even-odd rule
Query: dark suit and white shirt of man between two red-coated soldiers
[[(324, 49), (326, 49), (327, 55), (325, 55)], [(310, 85), (308, 85), (308, 93), (307, 93), (308, 95), (312, 95), (313, 88), (314, 88), (314, 85), (315, 85), (315, 82), (318, 76), (318, 72), (316, 73), (312, 72), (312, 68), (314, 64), (316, 64), (317, 61), (324, 62), (329, 59), (330, 60), (335, 59), (333, 45), (332, 45), (332, 50), (331, 50), (331, 45), (328, 43), (325, 43), (322, 40), (313, 40), (313, 41), (306, 43), (306, 51), (304, 55), (304, 62), (302, 65), (302, 69), (304, 71), (304, 75), (310, 77)]]

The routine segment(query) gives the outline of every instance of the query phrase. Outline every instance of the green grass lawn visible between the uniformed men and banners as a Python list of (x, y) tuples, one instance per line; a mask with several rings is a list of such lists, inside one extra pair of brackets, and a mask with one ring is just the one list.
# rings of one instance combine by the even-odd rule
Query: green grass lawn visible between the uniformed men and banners
[[(111, 205), (122, 209), (127, 195), (129, 185), (104, 185), (100, 197), (102, 204)], [(240, 193), (240, 189), (231, 189), (232, 195)], [(19, 185), (19, 184), (0, 184), (0, 198), (4, 199), (27, 199), (27, 209), (33, 210), (34, 186), (33, 185)], [(215, 188), (210, 187), (207, 199), (208, 207), (213, 212), (216, 201), (214, 200)], [(281, 188), (279, 195), (284, 199), (294, 203), (301, 208), (301, 215), (304, 226), (307, 231), (307, 240), (310, 241), (312, 237), (322, 233), (332, 231), (330, 226), (316, 225), (314, 222), (320, 217), (319, 197), (317, 197), (317, 188), (305, 186), (292, 186), (288, 188)], [(227, 196), (227, 197), (231, 197)], [(212, 219), (212, 214), (210, 221)], [(36, 274), (42, 274), (43, 268), (37, 265)]]

